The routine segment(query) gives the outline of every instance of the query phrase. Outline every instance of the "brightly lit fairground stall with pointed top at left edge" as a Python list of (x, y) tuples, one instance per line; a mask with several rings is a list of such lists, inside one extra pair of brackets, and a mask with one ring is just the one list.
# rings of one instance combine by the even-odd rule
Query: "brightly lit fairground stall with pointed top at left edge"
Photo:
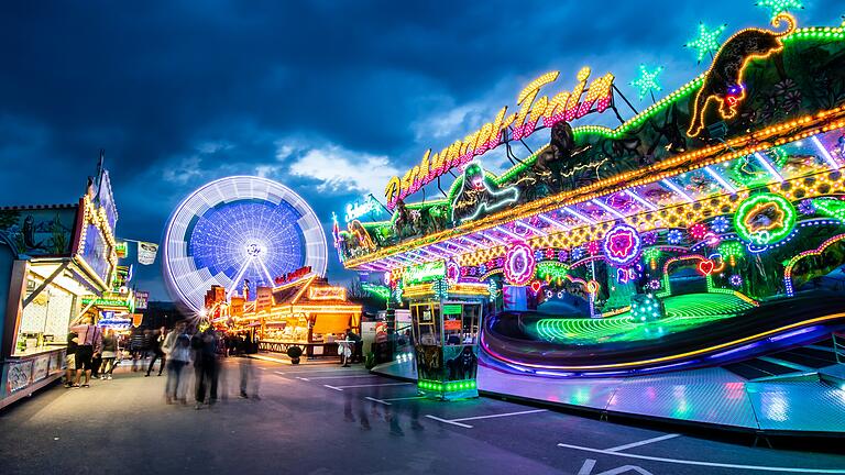
[(76, 205), (0, 209), (0, 407), (61, 377), (69, 323), (111, 290), (118, 213), (101, 165)]

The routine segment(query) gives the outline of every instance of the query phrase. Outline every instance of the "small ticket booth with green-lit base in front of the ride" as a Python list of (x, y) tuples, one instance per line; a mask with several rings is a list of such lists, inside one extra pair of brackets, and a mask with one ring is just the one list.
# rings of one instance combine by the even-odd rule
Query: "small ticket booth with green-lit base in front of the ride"
[(417, 388), (436, 399), (478, 397), (479, 333), (486, 287), (478, 286), (468, 292), (467, 285), (458, 284), (449, 289), (409, 299)]

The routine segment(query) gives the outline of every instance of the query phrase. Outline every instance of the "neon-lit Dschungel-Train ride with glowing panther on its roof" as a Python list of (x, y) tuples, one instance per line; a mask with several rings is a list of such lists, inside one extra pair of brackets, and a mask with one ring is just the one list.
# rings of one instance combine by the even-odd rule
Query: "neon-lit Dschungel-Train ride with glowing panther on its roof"
[[(613, 75), (551, 92), (559, 74), (541, 76), (516, 112), (391, 179), (389, 220), (336, 223), (341, 261), (383, 276), (393, 306), (485, 301), (479, 360), (520, 374), (713, 366), (830, 336), (845, 325), (845, 31), (772, 24), (694, 44), (710, 69), (628, 120)], [(570, 125), (611, 110), (615, 129)], [(482, 166), (542, 129), (512, 168)]]

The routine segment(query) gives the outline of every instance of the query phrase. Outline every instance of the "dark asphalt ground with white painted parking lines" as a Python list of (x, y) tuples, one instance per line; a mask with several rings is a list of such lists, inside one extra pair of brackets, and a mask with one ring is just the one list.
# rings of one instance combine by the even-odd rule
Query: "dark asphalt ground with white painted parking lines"
[(845, 440), (841, 454), (772, 450), (498, 399), (434, 401), (361, 366), (249, 361), (261, 398), (240, 399), (246, 362), (224, 362), (221, 399), (200, 410), (166, 405), (164, 376), (127, 368), (46, 389), (0, 412), (0, 474), (845, 474)]

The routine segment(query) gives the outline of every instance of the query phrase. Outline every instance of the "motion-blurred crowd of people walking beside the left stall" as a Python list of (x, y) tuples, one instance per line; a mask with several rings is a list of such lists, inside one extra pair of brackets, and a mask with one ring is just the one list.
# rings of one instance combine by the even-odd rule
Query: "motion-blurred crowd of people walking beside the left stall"
[[(157, 375), (167, 369), (165, 401), (188, 402), (190, 386), (189, 366), (193, 366), (193, 396), (195, 408), (211, 406), (218, 399), (221, 377), (220, 360), (257, 353), (257, 342), (244, 333), (221, 333), (212, 327), (204, 331), (179, 321), (167, 331), (138, 330), (131, 335), (121, 335), (111, 329), (101, 329), (85, 317), (79, 324), (70, 327), (67, 350), (67, 374), (65, 387), (90, 387), (91, 378), (111, 380), (114, 367), (131, 361), (131, 371), (144, 371), (152, 375), (158, 363)], [(149, 358), (149, 363), (147, 363)], [(257, 379), (252, 369), (251, 358), (240, 361), (240, 397), (259, 398)]]

